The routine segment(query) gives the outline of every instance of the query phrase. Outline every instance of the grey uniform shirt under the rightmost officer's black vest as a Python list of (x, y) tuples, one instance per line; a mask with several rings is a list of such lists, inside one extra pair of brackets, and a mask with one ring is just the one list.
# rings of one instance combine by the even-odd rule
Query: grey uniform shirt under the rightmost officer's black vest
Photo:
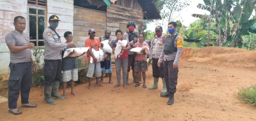
[[(171, 35), (170, 35), (171, 36)], [(167, 37), (167, 36), (166, 36)], [(175, 40), (174, 40), (174, 46), (177, 47), (177, 40), (178, 38), (180, 37), (180, 35), (178, 35)], [(182, 48), (177, 48), (177, 52), (173, 52), (172, 54), (164, 54), (164, 51), (162, 50), (161, 52), (161, 56), (158, 60), (158, 62), (163, 62), (164, 61), (170, 61), (170, 60), (174, 60), (174, 63), (173, 64), (176, 64), (178, 65), (179, 64), (179, 61), (180, 61), (180, 55), (181, 55), (181, 52), (182, 52)]]

